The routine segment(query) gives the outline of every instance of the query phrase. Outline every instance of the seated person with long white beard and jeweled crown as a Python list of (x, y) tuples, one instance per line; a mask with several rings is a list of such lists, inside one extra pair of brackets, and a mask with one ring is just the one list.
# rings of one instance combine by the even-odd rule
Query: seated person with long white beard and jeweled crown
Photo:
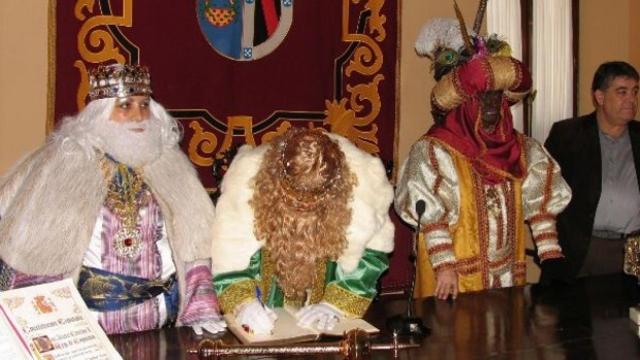
[(107, 333), (224, 331), (214, 208), (177, 123), (150, 98), (148, 69), (89, 78), (86, 108), (0, 178), (0, 290), (70, 276)]

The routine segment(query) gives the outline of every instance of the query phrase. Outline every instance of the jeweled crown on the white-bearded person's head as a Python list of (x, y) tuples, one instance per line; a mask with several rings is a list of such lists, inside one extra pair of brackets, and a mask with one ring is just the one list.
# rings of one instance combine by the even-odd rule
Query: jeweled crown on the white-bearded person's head
[(132, 95), (151, 95), (151, 75), (146, 66), (111, 64), (89, 71), (91, 100)]

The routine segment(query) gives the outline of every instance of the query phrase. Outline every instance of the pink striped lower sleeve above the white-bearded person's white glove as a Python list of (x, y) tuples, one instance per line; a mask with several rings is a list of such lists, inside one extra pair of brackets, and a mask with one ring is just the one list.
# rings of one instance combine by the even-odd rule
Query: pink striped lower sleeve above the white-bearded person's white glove
[(179, 323), (193, 325), (220, 318), (218, 299), (213, 291), (208, 262), (196, 260), (187, 264), (185, 308)]

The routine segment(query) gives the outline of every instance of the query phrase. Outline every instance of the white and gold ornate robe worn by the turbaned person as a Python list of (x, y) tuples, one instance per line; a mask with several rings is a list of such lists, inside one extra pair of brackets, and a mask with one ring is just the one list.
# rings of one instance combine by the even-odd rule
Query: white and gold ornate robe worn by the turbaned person
[(434, 271), (454, 268), (461, 292), (525, 282), (525, 221), (542, 261), (562, 257), (555, 217), (571, 190), (560, 167), (534, 139), (519, 135), (521, 178), (483, 181), (471, 160), (425, 136), (413, 145), (400, 170), (395, 207), (412, 226), (415, 204), (426, 202), (420, 218), (416, 296), (433, 295)]

